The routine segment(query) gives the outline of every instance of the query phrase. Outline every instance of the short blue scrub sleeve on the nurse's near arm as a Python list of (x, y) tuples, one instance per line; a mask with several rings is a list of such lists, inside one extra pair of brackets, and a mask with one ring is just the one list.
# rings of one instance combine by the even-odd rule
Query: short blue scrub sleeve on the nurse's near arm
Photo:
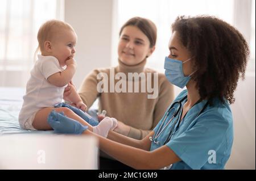
[(195, 119), (195, 125), (171, 139), (167, 146), (189, 167), (200, 169), (208, 161), (209, 151), (217, 152), (225, 141), (230, 118), (232, 114), (225, 110), (205, 111)]

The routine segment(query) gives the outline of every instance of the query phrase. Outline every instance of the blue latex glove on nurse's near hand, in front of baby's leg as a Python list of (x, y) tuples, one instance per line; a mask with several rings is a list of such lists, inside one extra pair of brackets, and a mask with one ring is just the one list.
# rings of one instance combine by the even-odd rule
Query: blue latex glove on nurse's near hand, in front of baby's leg
[(54, 110), (49, 113), (47, 121), (55, 133), (81, 134), (88, 128), (79, 121), (66, 117), (63, 112)]

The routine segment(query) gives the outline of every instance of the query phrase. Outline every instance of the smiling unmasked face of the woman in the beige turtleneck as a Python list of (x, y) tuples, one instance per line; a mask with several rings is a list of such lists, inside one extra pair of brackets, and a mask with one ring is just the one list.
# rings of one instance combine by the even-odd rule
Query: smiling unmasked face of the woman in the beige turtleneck
[(135, 26), (123, 28), (118, 43), (118, 58), (126, 65), (136, 65), (150, 56), (155, 47), (150, 48), (150, 41)]

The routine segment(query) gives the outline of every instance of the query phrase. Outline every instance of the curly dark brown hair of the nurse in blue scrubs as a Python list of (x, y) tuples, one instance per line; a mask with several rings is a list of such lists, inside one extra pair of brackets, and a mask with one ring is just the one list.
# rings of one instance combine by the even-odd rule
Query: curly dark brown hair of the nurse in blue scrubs
[(225, 99), (234, 103), (234, 90), (240, 77), (244, 79), (249, 47), (242, 34), (230, 24), (213, 16), (178, 16), (172, 24), (181, 43), (195, 61), (201, 99)]

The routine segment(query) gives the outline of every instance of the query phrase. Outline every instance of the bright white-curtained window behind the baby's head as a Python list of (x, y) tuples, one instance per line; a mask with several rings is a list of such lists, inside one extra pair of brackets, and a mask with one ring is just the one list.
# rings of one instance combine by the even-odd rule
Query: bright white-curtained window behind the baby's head
[(26, 86), (40, 25), (61, 19), (61, 0), (0, 0), (0, 86)]

